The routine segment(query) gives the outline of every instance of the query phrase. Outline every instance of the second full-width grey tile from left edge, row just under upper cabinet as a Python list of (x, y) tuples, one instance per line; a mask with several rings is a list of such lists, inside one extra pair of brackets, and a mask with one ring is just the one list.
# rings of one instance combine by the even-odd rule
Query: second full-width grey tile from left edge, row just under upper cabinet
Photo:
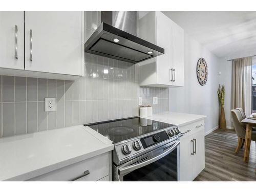
[(26, 77), (15, 77), (15, 101), (26, 101)]

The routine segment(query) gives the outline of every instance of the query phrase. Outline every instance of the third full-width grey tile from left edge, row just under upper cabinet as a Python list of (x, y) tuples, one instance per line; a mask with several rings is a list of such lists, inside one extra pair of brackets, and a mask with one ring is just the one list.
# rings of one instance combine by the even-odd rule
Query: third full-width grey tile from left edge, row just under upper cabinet
[(27, 78), (27, 101), (37, 101), (37, 78)]

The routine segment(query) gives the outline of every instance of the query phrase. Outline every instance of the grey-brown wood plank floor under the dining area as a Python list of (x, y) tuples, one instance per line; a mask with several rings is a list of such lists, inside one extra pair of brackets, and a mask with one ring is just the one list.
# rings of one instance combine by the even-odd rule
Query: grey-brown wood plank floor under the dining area
[(234, 153), (238, 137), (234, 131), (216, 130), (205, 136), (205, 168), (194, 181), (256, 181), (256, 145), (251, 141), (249, 163), (244, 147)]

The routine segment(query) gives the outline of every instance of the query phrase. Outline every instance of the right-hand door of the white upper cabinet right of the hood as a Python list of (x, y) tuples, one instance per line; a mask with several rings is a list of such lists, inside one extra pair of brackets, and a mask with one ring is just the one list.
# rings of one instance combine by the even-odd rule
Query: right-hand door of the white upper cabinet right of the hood
[(173, 24), (173, 86), (184, 87), (184, 30)]

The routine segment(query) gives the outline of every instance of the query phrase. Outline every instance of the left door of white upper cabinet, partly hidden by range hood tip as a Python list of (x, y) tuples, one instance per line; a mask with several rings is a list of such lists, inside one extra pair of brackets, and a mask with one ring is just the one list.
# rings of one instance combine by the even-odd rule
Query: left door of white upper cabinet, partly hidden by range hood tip
[(172, 26), (170, 19), (160, 11), (156, 12), (156, 44), (164, 48), (164, 54), (156, 57), (157, 83), (172, 85), (170, 68), (172, 68)]

